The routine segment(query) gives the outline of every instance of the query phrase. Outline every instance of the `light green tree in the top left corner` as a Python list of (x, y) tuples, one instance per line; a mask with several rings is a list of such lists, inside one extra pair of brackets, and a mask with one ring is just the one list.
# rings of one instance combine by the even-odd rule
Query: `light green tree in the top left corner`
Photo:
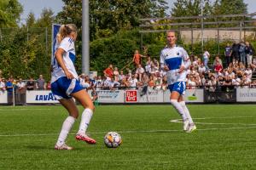
[(23, 8), (18, 0), (1, 0), (0, 27), (16, 27)]

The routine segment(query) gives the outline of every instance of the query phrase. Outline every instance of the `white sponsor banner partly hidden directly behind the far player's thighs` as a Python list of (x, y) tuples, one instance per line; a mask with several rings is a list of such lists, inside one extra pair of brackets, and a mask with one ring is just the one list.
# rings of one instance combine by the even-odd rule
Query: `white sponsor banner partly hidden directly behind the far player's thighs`
[[(186, 89), (184, 96), (187, 103), (203, 103), (204, 102), (204, 90), (203, 89)], [(170, 102), (170, 90), (164, 92), (164, 102)]]

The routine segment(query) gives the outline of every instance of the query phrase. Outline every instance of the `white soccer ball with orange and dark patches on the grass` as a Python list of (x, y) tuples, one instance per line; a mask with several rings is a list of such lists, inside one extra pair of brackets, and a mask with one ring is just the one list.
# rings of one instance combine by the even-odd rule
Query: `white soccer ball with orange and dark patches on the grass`
[(117, 148), (122, 144), (122, 139), (119, 133), (109, 132), (104, 137), (104, 143), (108, 148)]

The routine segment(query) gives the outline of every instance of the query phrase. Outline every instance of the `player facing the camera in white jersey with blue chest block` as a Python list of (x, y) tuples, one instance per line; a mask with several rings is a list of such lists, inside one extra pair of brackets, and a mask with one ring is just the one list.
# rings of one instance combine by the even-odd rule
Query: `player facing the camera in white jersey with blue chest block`
[(189, 68), (191, 62), (187, 52), (176, 45), (175, 31), (167, 31), (166, 39), (167, 45), (160, 53), (160, 65), (166, 71), (168, 88), (171, 91), (171, 103), (183, 118), (183, 130), (191, 133), (196, 127), (183, 99), (186, 89), (185, 70)]

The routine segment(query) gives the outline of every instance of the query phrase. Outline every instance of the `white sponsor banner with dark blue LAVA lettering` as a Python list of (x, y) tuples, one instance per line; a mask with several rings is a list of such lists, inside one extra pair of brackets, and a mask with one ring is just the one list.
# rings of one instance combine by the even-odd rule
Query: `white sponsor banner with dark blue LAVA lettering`
[(49, 90), (42, 91), (26, 91), (27, 104), (54, 104), (59, 103), (55, 96)]

